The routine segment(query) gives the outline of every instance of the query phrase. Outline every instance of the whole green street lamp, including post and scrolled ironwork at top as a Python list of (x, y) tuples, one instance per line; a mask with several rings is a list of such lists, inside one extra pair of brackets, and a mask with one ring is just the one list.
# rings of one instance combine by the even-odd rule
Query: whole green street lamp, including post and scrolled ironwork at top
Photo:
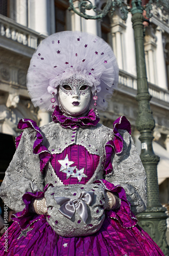
[[(125, 0), (107, 0), (103, 10), (99, 10), (96, 6), (93, 6), (89, 0), (79, 1), (79, 11), (74, 7), (75, 1), (69, 0), (69, 10), (73, 10), (75, 13), (84, 17), (85, 19), (102, 19), (110, 11), (113, 15), (116, 8), (120, 9), (122, 19), (127, 19), (129, 11), (132, 13), (132, 23), (134, 29), (135, 50), (136, 50), (136, 65), (137, 65), (137, 96), (138, 101), (138, 114), (136, 119), (136, 127), (140, 132), (141, 141), (141, 154), (140, 158), (146, 169), (147, 173), (147, 194), (148, 205), (146, 211), (137, 216), (139, 225), (146, 230), (153, 240), (158, 244), (165, 255), (168, 255), (168, 245), (166, 243), (166, 214), (165, 208), (161, 206), (159, 201), (159, 188), (157, 180), (157, 164), (159, 157), (153, 152), (152, 131), (155, 127), (155, 121), (150, 109), (151, 95), (149, 94), (147, 74), (146, 74), (146, 62), (144, 58), (144, 44), (143, 44), (143, 22), (145, 18), (142, 15), (143, 6), (141, 6), (141, 0), (132, 0), (131, 8), (127, 5)], [(77, 1), (76, 1), (77, 2)], [(164, 6), (169, 10), (169, 4), (166, 0), (150, 0), (146, 7), (147, 17), (151, 17), (152, 3), (155, 3), (157, 7)], [(91, 16), (86, 14), (86, 10), (93, 10), (96, 15)], [(139, 171), (139, 170), (138, 170)]]

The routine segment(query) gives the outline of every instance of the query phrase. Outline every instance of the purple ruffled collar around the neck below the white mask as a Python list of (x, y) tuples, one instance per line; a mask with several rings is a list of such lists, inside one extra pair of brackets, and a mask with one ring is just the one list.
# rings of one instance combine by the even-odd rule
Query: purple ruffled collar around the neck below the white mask
[(55, 123), (60, 123), (62, 127), (70, 129), (77, 129), (78, 127), (87, 127), (90, 125), (97, 125), (100, 118), (94, 109), (91, 109), (86, 116), (81, 117), (70, 117), (65, 116), (59, 109), (59, 106), (56, 106), (53, 114), (52, 119)]

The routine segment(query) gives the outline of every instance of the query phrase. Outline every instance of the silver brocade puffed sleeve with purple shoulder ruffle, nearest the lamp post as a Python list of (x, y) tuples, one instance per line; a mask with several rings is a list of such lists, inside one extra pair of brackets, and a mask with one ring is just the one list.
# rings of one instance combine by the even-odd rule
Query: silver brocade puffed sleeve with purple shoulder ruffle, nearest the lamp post
[(137, 215), (147, 205), (146, 172), (130, 131), (117, 129), (114, 135), (114, 142), (107, 143), (105, 179), (125, 189), (131, 210)]

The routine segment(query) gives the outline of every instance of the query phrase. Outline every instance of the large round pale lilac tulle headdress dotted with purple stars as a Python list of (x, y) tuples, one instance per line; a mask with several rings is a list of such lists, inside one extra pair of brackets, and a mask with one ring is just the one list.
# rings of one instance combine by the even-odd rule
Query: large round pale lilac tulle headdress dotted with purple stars
[[(78, 31), (63, 31), (45, 38), (32, 56), (27, 75), (34, 106), (53, 111), (52, 106), (59, 105), (59, 84), (74, 75), (87, 81), (93, 95), (97, 91), (97, 109), (105, 110), (118, 83), (118, 65), (107, 42)], [(93, 104), (94, 99), (90, 108)]]

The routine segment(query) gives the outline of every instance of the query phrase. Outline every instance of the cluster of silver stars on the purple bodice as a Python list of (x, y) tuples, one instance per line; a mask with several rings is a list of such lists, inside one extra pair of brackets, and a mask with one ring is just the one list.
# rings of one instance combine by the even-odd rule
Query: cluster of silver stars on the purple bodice
[[(59, 172), (65, 173), (66, 179), (68, 179), (70, 176), (78, 178), (79, 181), (81, 181), (82, 178), (87, 178), (87, 175), (84, 174), (84, 168), (79, 170), (78, 168), (76, 168), (76, 166), (70, 166), (75, 162), (69, 161), (68, 155), (66, 155), (65, 159), (58, 160), (58, 162), (61, 164)], [(74, 173), (75, 168), (76, 168), (76, 174)]]

